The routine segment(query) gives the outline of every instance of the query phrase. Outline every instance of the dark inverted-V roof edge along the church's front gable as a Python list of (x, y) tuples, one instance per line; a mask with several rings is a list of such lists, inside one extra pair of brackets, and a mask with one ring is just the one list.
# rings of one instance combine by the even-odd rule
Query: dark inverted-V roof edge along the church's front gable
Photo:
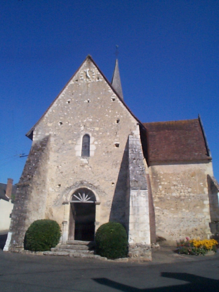
[(68, 85), (68, 83), (72, 80), (72, 78), (74, 77), (74, 75), (80, 70), (80, 68), (82, 67), (82, 65), (84, 64), (84, 62), (90, 59), (91, 62), (93, 62), (93, 64), (97, 67), (97, 69), (100, 71), (101, 75), (104, 77), (104, 80), (107, 82), (107, 84), (110, 86), (110, 88), (113, 90), (113, 92), (116, 94), (116, 96), (119, 98), (119, 100), (122, 102), (122, 104), (126, 107), (126, 109), (129, 111), (129, 113), (131, 113), (131, 115), (137, 120), (137, 122), (142, 125), (142, 123), (140, 122), (139, 119), (137, 119), (137, 117), (131, 112), (131, 110), (128, 108), (128, 106), (125, 104), (125, 102), (122, 100), (122, 98), (119, 96), (119, 94), (116, 92), (116, 90), (113, 88), (112, 84), (107, 80), (107, 78), (105, 77), (105, 75), (103, 74), (103, 72), (100, 70), (100, 68), (98, 67), (98, 65), (94, 62), (94, 60), (92, 59), (91, 55), (88, 55), (84, 61), (81, 63), (81, 65), (79, 66), (79, 68), (75, 71), (75, 73), (71, 76), (71, 78), (68, 80), (68, 82), (65, 84), (65, 86), (61, 89), (61, 91), (59, 92), (59, 94), (56, 96), (56, 98), (54, 99), (54, 101), (52, 101), (52, 103), (49, 105), (49, 107), (47, 108), (47, 110), (44, 112), (44, 114), (41, 116), (41, 118), (38, 120), (38, 122), (36, 122), (36, 124), (26, 133), (26, 136), (33, 140), (33, 131), (35, 130), (36, 126), (39, 124), (39, 122), (41, 121), (41, 119), (43, 119), (43, 117), (46, 115), (46, 113), (48, 112), (48, 110), (50, 109), (50, 107), (52, 107), (52, 105), (55, 103), (55, 101), (58, 99), (58, 97), (61, 95), (61, 93), (63, 92), (63, 90), (65, 89), (65, 87)]

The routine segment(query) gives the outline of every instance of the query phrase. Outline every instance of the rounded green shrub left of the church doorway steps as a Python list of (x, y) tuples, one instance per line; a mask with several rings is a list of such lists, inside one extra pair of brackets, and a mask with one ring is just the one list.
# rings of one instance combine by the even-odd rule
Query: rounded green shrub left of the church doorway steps
[(32, 251), (48, 251), (58, 244), (61, 230), (54, 220), (42, 219), (34, 221), (24, 237), (24, 249)]

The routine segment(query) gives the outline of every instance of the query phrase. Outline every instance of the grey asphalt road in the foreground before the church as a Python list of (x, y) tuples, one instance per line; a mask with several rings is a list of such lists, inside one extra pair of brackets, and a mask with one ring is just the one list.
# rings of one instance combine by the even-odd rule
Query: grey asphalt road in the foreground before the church
[(219, 291), (218, 255), (168, 258), (158, 251), (154, 262), (118, 263), (0, 250), (0, 291)]

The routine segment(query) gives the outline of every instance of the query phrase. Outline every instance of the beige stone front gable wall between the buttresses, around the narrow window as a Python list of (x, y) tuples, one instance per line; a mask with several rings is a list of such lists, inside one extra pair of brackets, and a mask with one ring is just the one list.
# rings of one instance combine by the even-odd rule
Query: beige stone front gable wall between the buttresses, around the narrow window
[[(91, 78), (86, 77), (89, 69)], [(61, 204), (76, 182), (97, 189), (101, 212), (96, 228), (124, 223), (128, 135), (138, 131), (131, 116), (92, 62), (87, 60), (41, 119), (34, 140), (51, 135), (46, 216), (63, 221)], [(90, 136), (90, 157), (81, 157), (82, 137)], [(80, 185), (82, 187), (83, 185)], [(113, 203), (113, 206), (112, 206)], [(112, 207), (112, 209), (111, 209)]]

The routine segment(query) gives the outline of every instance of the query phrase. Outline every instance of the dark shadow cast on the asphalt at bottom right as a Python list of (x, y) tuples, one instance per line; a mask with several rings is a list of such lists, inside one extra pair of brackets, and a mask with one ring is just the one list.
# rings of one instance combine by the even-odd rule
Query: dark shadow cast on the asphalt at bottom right
[(186, 281), (189, 283), (180, 284), (180, 285), (173, 285), (167, 287), (156, 287), (156, 288), (146, 288), (146, 289), (139, 289), (136, 287), (131, 287), (125, 284), (121, 284), (115, 281), (111, 281), (107, 278), (93, 278), (95, 282), (98, 284), (102, 284), (119, 291), (124, 292), (212, 292), (218, 291), (219, 287), (219, 280), (214, 280), (210, 278), (204, 278), (192, 274), (187, 273), (161, 273), (162, 277), (166, 278), (173, 278), (177, 280)]

